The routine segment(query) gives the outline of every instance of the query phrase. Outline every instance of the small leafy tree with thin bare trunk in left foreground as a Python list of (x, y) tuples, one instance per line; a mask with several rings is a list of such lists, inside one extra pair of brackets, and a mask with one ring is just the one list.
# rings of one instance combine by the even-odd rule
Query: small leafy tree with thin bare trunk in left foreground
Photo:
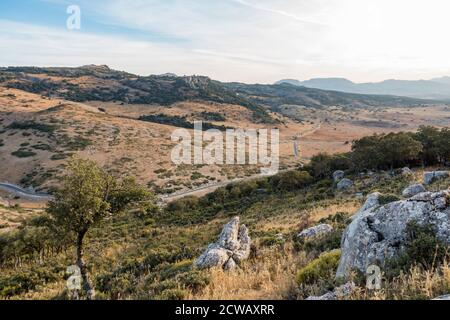
[(76, 238), (77, 266), (88, 299), (92, 299), (94, 291), (84, 262), (85, 236), (102, 219), (133, 203), (141, 208), (143, 204), (150, 206), (153, 196), (138, 186), (134, 179), (117, 181), (91, 160), (70, 160), (68, 174), (47, 211), (55, 224), (73, 233)]

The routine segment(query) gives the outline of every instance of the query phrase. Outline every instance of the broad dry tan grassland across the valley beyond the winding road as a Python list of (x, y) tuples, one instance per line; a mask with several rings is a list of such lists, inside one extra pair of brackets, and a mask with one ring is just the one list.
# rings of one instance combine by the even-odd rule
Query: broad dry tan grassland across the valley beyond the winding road
[[(77, 78), (77, 81), (82, 81)], [(83, 85), (90, 85), (89, 82)], [(373, 133), (416, 130), (420, 125), (448, 126), (446, 106), (347, 110), (285, 106), (271, 113), (277, 125), (255, 123), (240, 105), (178, 102), (170, 106), (119, 102), (76, 103), (0, 87), (0, 181), (49, 189), (57, 185), (64, 163), (74, 155), (96, 160), (118, 175), (133, 175), (159, 192), (179, 192), (255, 175), (255, 166), (174, 166), (170, 160), (177, 127), (139, 121), (143, 115), (185, 117), (229, 128), (280, 129), (281, 164), (298, 164), (301, 155), (345, 152), (351, 141)], [(211, 121), (205, 115), (218, 115)]]

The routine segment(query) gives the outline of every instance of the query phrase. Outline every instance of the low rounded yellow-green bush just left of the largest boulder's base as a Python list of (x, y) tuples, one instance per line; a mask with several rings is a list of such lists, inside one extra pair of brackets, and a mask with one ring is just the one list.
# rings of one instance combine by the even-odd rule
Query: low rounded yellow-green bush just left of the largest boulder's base
[(322, 254), (313, 260), (297, 273), (297, 283), (299, 285), (309, 285), (319, 280), (329, 279), (334, 276), (341, 258), (341, 251), (334, 250)]

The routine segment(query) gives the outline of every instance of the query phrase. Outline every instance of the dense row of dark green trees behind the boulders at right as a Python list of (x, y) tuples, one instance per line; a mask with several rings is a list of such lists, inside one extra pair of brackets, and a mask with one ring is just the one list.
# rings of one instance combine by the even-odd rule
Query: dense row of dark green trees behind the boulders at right
[(336, 170), (394, 170), (401, 167), (447, 166), (450, 163), (450, 129), (422, 126), (417, 132), (375, 134), (356, 140), (348, 153), (320, 153), (308, 171), (316, 178)]

